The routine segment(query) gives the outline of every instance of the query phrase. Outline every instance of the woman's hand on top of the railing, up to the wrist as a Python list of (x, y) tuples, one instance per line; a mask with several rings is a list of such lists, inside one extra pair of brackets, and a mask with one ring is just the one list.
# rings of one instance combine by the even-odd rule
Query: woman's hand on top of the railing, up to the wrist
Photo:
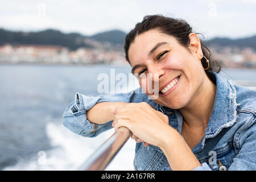
[(144, 146), (152, 144), (160, 147), (170, 132), (167, 115), (156, 111), (146, 102), (117, 106), (112, 112), (115, 131), (119, 127), (127, 127), (133, 133), (131, 138), (137, 139), (137, 142), (146, 142)]

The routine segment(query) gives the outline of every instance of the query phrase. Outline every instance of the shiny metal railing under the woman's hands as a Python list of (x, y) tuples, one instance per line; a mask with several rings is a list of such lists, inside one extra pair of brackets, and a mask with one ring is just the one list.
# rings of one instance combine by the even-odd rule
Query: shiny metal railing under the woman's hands
[(126, 127), (120, 127), (109, 137), (88, 160), (79, 168), (80, 171), (102, 171), (131, 137)]

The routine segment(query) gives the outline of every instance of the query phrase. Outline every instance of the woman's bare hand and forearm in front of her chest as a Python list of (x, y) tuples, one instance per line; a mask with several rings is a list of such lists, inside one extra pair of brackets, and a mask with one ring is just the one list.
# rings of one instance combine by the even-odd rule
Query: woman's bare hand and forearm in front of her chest
[(127, 127), (133, 138), (159, 147), (172, 170), (192, 170), (201, 165), (181, 135), (168, 125), (167, 115), (146, 102), (117, 106), (112, 112), (115, 130)]

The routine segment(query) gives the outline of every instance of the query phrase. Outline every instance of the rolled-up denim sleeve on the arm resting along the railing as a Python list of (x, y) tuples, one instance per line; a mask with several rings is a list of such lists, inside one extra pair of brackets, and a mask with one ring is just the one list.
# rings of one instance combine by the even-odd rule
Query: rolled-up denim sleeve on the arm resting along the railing
[(130, 93), (101, 94), (99, 96), (85, 96), (75, 94), (75, 100), (68, 105), (63, 114), (63, 125), (76, 134), (84, 137), (96, 137), (98, 134), (112, 128), (109, 121), (103, 125), (90, 122), (86, 117), (86, 111), (100, 102), (143, 102), (148, 100), (141, 88)]

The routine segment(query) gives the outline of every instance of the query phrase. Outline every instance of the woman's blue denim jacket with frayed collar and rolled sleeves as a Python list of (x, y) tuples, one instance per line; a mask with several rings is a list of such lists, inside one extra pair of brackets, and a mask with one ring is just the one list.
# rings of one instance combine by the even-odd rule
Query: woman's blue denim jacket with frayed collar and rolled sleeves
[[(204, 137), (192, 149), (201, 163), (194, 170), (256, 170), (256, 91), (210, 72), (216, 84), (216, 97), (212, 115)], [(182, 115), (150, 100), (145, 93), (135, 90), (130, 93), (102, 94), (97, 97), (76, 93), (75, 100), (65, 109), (63, 125), (84, 137), (96, 137), (111, 129), (112, 122), (103, 125), (91, 123), (86, 111), (99, 102), (147, 102), (152, 108), (166, 114), (169, 125), (181, 134)], [(138, 90), (137, 90), (138, 91)], [(160, 148), (144, 147), (136, 143), (135, 170), (171, 170)]]

